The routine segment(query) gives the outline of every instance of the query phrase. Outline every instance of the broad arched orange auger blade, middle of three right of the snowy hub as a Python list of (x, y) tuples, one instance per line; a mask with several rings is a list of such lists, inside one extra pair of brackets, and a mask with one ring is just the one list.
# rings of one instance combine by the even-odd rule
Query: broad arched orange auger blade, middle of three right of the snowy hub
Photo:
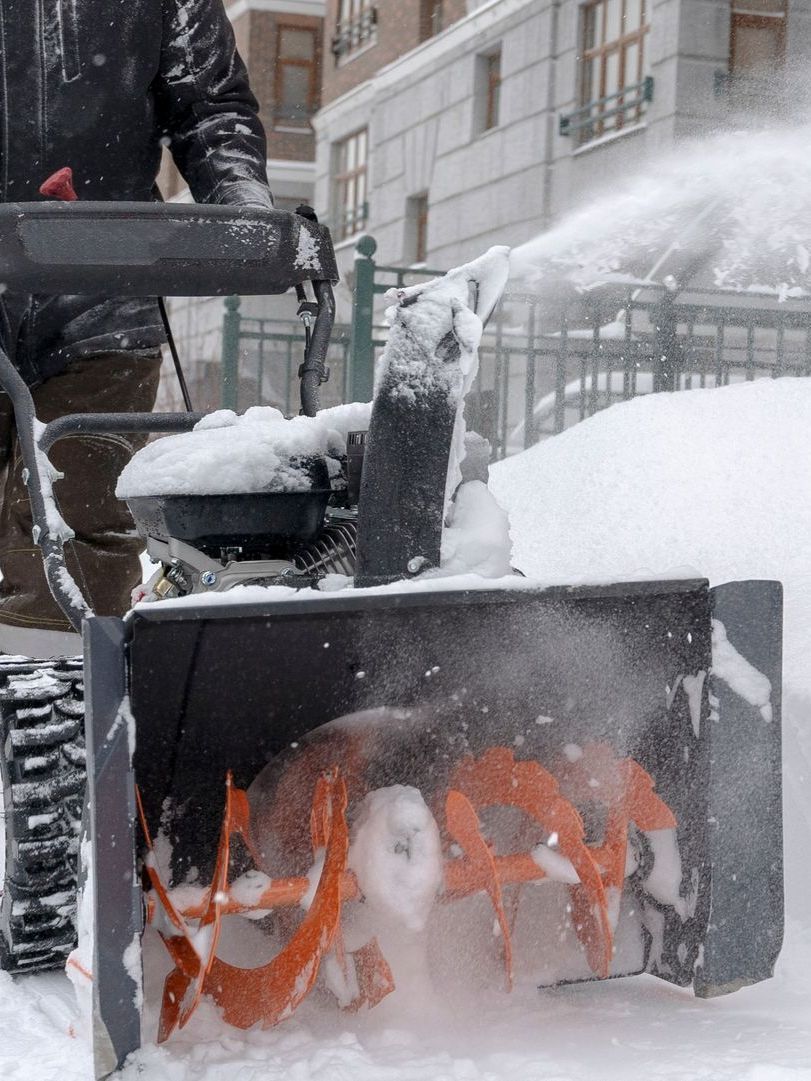
[(577, 904), (574, 929), (586, 959), (598, 976), (608, 976), (613, 933), (599, 868), (584, 840), (583, 819), (560, 793), (555, 777), (540, 762), (517, 762), (507, 747), (491, 747), (475, 759), (466, 756), (451, 776), (451, 787), (467, 796), (477, 810), (517, 806), (549, 833), (574, 867), (585, 904)]

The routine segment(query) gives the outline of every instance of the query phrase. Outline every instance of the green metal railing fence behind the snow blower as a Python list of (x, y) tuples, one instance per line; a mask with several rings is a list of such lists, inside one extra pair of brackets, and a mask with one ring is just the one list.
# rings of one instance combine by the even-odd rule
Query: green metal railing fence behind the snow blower
[[(335, 326), (324, 405), (368, 401), (387, 330), (375, 305), (388, 289), (441, 273), (378, 266), (357, 245), (353, 316)], [(223, 404), (297, 412), (298, 323), (241, 315), (229, 297), (223, 333)], [(811, 375), (811, 302), (655, 282), (555, 296), (508, 293), (486, 328), (468, 396), (470, 427), (495, 457), (531, 446), (614, 402), (662, 390)]]

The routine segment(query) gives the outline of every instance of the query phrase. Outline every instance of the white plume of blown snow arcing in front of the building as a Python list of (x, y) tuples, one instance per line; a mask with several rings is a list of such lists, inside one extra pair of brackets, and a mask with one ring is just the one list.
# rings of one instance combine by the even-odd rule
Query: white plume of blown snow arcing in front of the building
[(514, 279), (656, 280), (676, 252), (722, 289), (811, 291), (811, 125), (684, 143), (511, 252)]

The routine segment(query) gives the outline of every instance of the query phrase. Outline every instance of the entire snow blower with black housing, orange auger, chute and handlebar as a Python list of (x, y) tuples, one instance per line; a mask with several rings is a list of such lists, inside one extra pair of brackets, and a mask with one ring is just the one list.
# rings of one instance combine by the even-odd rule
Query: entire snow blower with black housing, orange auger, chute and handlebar
[[(314, 412), (307, 373), (316, 384), (322, 374), (335, 273), (329, 236), (311, 223), (221, 208), (6, 205), (0, 261), (10, 288), (39, 293), (102, 281), (123, 295), (269, 293), (316, 279), (304, 364)], [(83, 626), (93, 889), (92, 953), (79, 961), (92, 970), (97, 1076), (141, 1042), (145, 917), (171, 970), (161, 1038), (202, 996), (238, 1027), (284, 1019), (317, 980), (345, 1007), (378, 1002), (396, 983), (398, 935), (359, 937), (356, 916), (393, 916), (385, 875), (398, 858), (397, 881), (408, 884), (412, 865), (418, 879), (402, 935), (479, 906), (506, 984), (519, 964), (539, 984), (648, 971), (702, 996), (771, 975), (782, 938), (780, 586), (442, 576), (467, 498), (456, 490), (464, 393), (505, 277), (496, 250), (395, 298), (358, 499), (353, 455), (335, 439), (343, 432), (347, 452), (360, 442), (351, 411), (288, 422), (306, 429), (306, 453), (288, 459), (292, 443), (269, 422), (280, 468), (264, 490), (178, 491), (171, 468), (173, 490), (149, 490), (172, 440), (188, 450), (222, 417), (142, 452), (150, 468), (138, 476), (136, 459), (121, 491), (163, 560), (151, 596), (168, 599), (125, 619), (94, 616), (66, 576), (46, 451), (71, 431), (187, 431), (199, 418), (85, 415), (43, 428), (0, 357), (49, 579)], [(225, 421), (236, 435), (240, 422)], [(303, 515), (291, 494), (313, 495), (296, 501)], [(309, 588), (335, 571), (359, 588)], [(307, 588), (215, 596), (224, 575)], [(57, 676), (35, 673), (27, 703), (12, 678), (4, 692), (11, 889), (0, 931), (12, 961), (16, 943), (28, 957), (31, 943), (52, 944), (54, 905), (22, 872), (70, 859), (53, 814), (70, 820), (61, 808), (76, 802), (78, 771), (69, 784), (64, 770), (37, 784), (54, 746), (65, 759), (51, 725)], [(532, 926), (540, 897), (557, 902), (554, 925)], [(281, 940), (244, 967), (221, 949), (224, 927), (267, 912)], [(540, 956), (521, 952), (528, 922)], [(555, 967), (544, 946), (564, 931), (573, 953)]]

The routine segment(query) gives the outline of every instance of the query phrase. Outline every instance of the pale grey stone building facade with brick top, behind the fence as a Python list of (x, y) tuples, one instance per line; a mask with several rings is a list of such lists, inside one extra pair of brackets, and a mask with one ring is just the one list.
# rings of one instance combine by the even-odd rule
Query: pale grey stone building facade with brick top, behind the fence
[[(315, 205), (351, 278), (518, 244), (684, 138), (774, 123), (811, 0), (330, 0)], [(341, 296), (347, 304), (347, 294)]]

